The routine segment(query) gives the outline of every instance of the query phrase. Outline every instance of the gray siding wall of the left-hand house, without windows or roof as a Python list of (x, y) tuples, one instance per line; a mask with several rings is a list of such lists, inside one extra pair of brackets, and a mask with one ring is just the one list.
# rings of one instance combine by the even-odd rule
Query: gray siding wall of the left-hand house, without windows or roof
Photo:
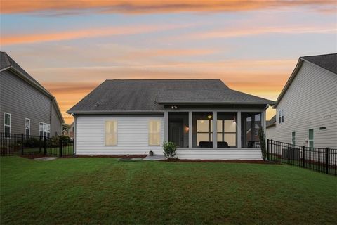
[(39, 135), (39, 122), (50, 124), (51, 99), (4, 70), (0, 72), (1, 132), (4, 132), (4, 112), (11, 113), (11, 133), (25, 134), (25, 118), (29, 118), (30, 134)]

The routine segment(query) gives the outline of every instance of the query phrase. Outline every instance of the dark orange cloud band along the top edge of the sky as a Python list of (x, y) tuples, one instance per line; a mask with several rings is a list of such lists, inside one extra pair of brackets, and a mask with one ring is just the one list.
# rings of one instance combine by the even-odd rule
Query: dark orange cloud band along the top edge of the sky
[(1, 13), (67, 15), (70, 11), (94, 13), (177, 13), (252, 11), (265, 8), (311, 6), (317, 11), (336, 8), (335, 0), (1, 0)]

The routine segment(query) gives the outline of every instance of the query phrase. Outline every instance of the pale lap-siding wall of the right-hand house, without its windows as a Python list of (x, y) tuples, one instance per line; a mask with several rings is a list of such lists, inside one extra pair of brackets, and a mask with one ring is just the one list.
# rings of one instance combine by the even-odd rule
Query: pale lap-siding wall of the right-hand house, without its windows
[[(284, 110), (284, 122), (277, 117), (275, 140), (308, 146), (308, 130), (314, 129), (314, 146), (337, 148), (337, 75), (304, 62), (289, 89), (277, 105)], [(326, 127), (319, 131), (319, 127)]]

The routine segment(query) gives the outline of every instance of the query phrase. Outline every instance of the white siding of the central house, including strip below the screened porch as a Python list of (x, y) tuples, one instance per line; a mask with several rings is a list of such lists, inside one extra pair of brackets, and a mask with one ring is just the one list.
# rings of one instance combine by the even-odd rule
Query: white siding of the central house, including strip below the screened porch
[[(117, 146), (105, 146), (105, 121), (117, 120)], [(143, 155), (150, 150), (163, 155), (161, 146), (148, 146), (148, 122), (161, 120), (161, 142), (164, 141), (164, 116), (89, 116), (76, 119), (77, 155)], [(177, 150), (181, 159), (261, 160), (259, 148), (193, 148)]]

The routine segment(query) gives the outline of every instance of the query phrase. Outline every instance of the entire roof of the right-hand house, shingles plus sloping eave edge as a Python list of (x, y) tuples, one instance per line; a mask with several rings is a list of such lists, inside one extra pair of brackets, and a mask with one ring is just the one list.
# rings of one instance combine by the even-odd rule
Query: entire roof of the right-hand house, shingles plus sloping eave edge
[(319, 68), (322, 68), (324, 70), (327, 70), (329, 72), (334, 73), (337, 75), (337, 53), (331, 53), (326, 55), (318, 55), (318, 56), (302, 56), (298, 59), (297, 65), (293, 72), (291, 73), (291, 76), (289, 77), (288, 81), (286, 82), (286, 85), (281, 91), (281, 94), (279, 94), (279, 97), (277, 98), (276, 104), (274, 105), (274, 108), (277, 107), (279, 102), (281, 101), (284, 94), (286, 94), (286, 91), (288, 90), (289, 86), (291, 85), (291, 82), (293, 82), (293, 79), (295, 79), (298, 71), (300, 70), (301, 66), (303, 65), (303, 62), (312, 63)]

